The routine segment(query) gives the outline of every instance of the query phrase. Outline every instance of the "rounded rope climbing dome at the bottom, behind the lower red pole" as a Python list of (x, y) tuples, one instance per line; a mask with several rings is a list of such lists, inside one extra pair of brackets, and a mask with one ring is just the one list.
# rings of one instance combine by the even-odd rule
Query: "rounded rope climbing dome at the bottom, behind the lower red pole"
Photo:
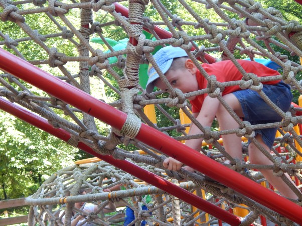
[[(169, 176), (162, 169), (146, 167), (144, 164), (139, 164), (139, 166), (156, 171), (163, 178), (169, 179)], [(83, 179), (84, 177), (86, 179)], [(111, 189), (117, 185), (122, 185), (125, 188), (125, 190), (110, 193), (111, 200), (115, 202), (118, 210), (110, 215), (104, 214), (102, 211), (108, 204), (108, 192), (105, 192), (105, 189)], [(79, 189), (83, 187), (86, 188), (87, 194), (78, 195)], [(191, 192), (198, 192), (202, 196), (201, 190), (193, 182), (180, 183), (180, 187)], [(61, 197), (66, 197), (67, 194), (68, 197), (64, 201)], [(149, 199), (144, 198), (145, 196), (149, 196)], [(151, 197), (152, 202), (150, 202)], [(208, 195), (209, 200), (213, 197), (213, 195)], [(37, 223), (44, 225), (47, 221), (55, 225), (62, 225), (67, 222), (67, 219), (72, 221), (78, 215), (85, 217), (86, 221), (83, 223), (119, 225), (125, 219), (125, 206), (135, 211), (136, 218), (132, 222), (133, 224), (141, 220), (160, 225), (171, 225), (172, 222), (183, 225), (193, 222), (208, 221), (210, 223), (217, 221), (216, 218), (209, 221), (208, 216), (206, 220), (205, 212), (200, 212), (196, 208), (192, 211), (192, 207), (188, 203), (168, 195), (157, 187), (148, 186), (143, 181), (104, 161), (74, 165), (56, 172), (43, 183), (28, 202), (32, 204), (29, 225)], [(64, 202), (67, 204), (63, 204)], [(85, 205), (81, 209), (73, 208), (71, 204), (75, 202), (93, 203), (98, 206), (98, 210), (87, 212), (84, 208)], [(37, 205), (40, 209), (37, 208)], [(53, 206), (56, 205), (59, 207), (55, 209)], [(147, 210), (142, 209), (143, 205), (147, 207)], [(234, 206), (234, 204), (231, 205)], [(52, 209), (49, 209), (50, 206)], [(54, 209), (55, 211), (50, 211)], [(71, 216), (72, 210), (76, 212), (73, 216)]]

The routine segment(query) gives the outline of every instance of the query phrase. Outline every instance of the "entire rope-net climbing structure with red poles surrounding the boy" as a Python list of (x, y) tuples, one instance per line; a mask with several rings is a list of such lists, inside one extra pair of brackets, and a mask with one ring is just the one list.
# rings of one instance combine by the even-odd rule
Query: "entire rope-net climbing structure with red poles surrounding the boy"
[[(302, 155), (300, 150), (302, 141), (298, 128), (301, 116), (292, 115), (290, 112), (279, 112), (283, 115), (283, 122), (274, 125), (248, 125), (242, 122), (234, 131), (211, 131), (198, 125), (203, 132), (200, 136), (207, 144), (215, 146), (215, 149), (211, 147), (208, 150), (203, 149), (205, 155), (202, 155), (179, 142), (192, 138), (186, 136), (188, 122), (182, 123), (181, 120), (174, 119), (161, 106), (166, 104), (168, 107), (181, 108), (189, 121), (197, 123), (192, 118), (188, 110), (190, 106), (186, 101), (186, 97), (192, 94), (183, 94), (174, 90), (169, 97), (160, 99), (158, 97), (162, 94), (161, 91), (146, 94), (138, 82), (140, 65), (155, 64), (151, 54), (155, 48), (161, 45), (174, 45), (185, 49), (196, 64), (198, 64), (197, 59), (202, 62), (215, 62), (216, 59), (211, 56), (213, 52), (222, 52), (223, 60), (230, 59), (233, 62), (235, 62), (234, 51), (239, 51), (242, 55), (246, 54), (251, 60), (256, 56), (267, 57), (283, 69), (282, 75), (273, 79), (283, 79), (301, 93), (302, 87), (295, 77), (301, 72), (302, 67), (288, 60), (288, 56), (276, 52), (269, 45), (273, 43), (291, 52), (291, 55), (301, 57), (301, 26), (297, 22), (283, 20), (276, 9), (263, 9), (259, 3), (252, 1), (200, 1), (198, 6), (213, 10), (222, 18), (224, 22), (219, 23), (203, 19), (201, 15), (196, 14), (193, 2), (179, 1), (179, 6), (188, 12), (188, 15), (192, 15), (191, 21), (172, 15), (159, 1), (151, 1), (151, 3), (161, 17), (161, 23), (143, 17), (148, 1), (129, 1), (129, 11), (114, 1), (81, 3), (0, 1), (0, 6), (3, 8), (0, 13), (2, 24), (13, 22), (14, 26), (18, 25), (24, 31), (22, 34), (24, 37), (20, 38), (15, 37), (16, 34), (4, 34), (0, 30), (0, 37), (3, 38), (3, 41), (0, 40), (0, 45), (19, 56), (17, 58), (0, 49), (0, 68), (4, 71), (0, 78), (2, 84), (0, 107), (112, 165), (111, 167), (104, 162), (83, 164), (71, 166), (52, 175), (35, 195), (26, 200), (32, 205), (29, 224), (43, 225), (45, 221), (62, 224), (59, 212), (64, 211), (65, 224), (69, 225), (71, 212), (74, 210), (77, 214), (87, 216), (88, 221), (112, 225), (116, 218), (100, 216), (101, 209), (109, 198), (114, 201), (132, 198), (131, 207), (135, 210), (137, 221), (147, 219), (150, 223), (160, 225), (210, 224), (214, 220), (222, 220), (230, 225), (250, 225), (256, 224), (260, 215), (278, 225), (302, 224), (300, 216), (302, 207), (295, 201), (287, 200), (260, 185), (264, 179), (256, 171), (260, 167), (274, 170), (275, 174), (282, 177), (290, 186), (284, 176), (284, 172), (287, 172), (294, 177), (296, 184), (300, 185), (301, 166), (291, 163), (299, 161)], [(74, 21), (72, 18), (71, 23), (68, 11), (79, 8), (81, 9), (79, 21)], [(94, 21), (93, 11), (98, 14), (110, 14), (111, 18), (103, 23)], [(243, 16), (244, 19), (239, 17), (231, 19), (224, 11)], [(25, 15), (38, 13), (54, 24), (55, 31), (52, 34), (44, 34), (44, 31), (26, 22)], [(7, 22), (8, 20), (11, 22)], [(78, 23), (80, 29), (77, 29), (75, 23)], [(170, 32), (159, 27), (158, 24), (165, 24)], [(113, 25), (119, 26), (119, 31), (124, 31), (124, 36), (129, 38), (125, 49), (114, 50), (104, 36), (106, 27), (110, 29)], [(188, 29), (190, 27), (194, 27), (196, 33), (186, 32), (190, 31)], [(146, 39), (143, 30), (152, 34), (155, 39)], [(110, 51), (95, 49), (87, 41), (93, 35), (101, 38)], [(62, 37), (64, 42), (74, 45), (74, 50), (78, 54), (74, 56), (63, 53), (64, 44), (62, 46), (56, 44), (57, 48), (48, 46), (47, 41), (59, 37)], [(262, 40), (266, 48), (261, 47), (254, 38), (258, 41)], [(23, 60), (26, 57), (18, 50), (18, 45), (28, 41), (37, 43), (41, 48), (36, 46), (35, 48), (46, 53), (48, 59), (34, 58), (28, 62)], [(209, 47), (203, 46), (202, 42), (208, 42)], [(117, 61), (110, 62), (109, 59), (112, 57), (116, 57)], [(75, 61), (79, 62), (78, 71), (74, 71)], [(50, 67), (46, 67), (46, 64)], [(46, 73), (34, 65), (40, 65), (57, 76)], [(244, 79), (234, 81), (231, 85), (261, 88), (259, 84), (261, 80), (251, 78), (244, 71), (242, 74)], [(209, 75), (204, 74), (204, 76), (210, 81)], [(107, 103), (99, 100), (103, 100), (105, 95), (102, 97), (95, 95), (90, 85), (95, 85), (93, 83), (96, 80), (91, 77), (101, 80), (102, 83), (98, 85), (105, 84), (116, 92), (119, 99), (110, 101), (107, 98), (105, 100)], [(117, 83), (118, 87), (114, 87), (113, 82)], [(217, 84), (212, 81), (207, 90), (198, 91), (194, 95), (203, 92), (214, 94), (226, 85), (230, 84)], [(34, 87), (45, 93), (36, 92)], [(102, 87), (101, 92), (103, 91)], [(16, 104), (5, 101), (4, 98)], [(160, 128), (154, 118), (147, 117), (148, 113), (142, 109), (152, 105), (156, 106), (159, 114), (167, 116), (172, 126)], [(292, 110), (300, 109), (295, 106)], [(69, 117), (68, 120), (66, 116)], [(238, 116), (234, 115), (234, 117), (240, 121)], [(97, 120), (110, 125), (111, 132), (105, 135), (99, 134)], [(280, 127), (276, 146), (270, 156), (274, 165), (250, 165), (248, 162), (242, 163), (232, 159), (219, 142), (220, 135), (223, 133), (237, 133), (238, 136), (244, 136), (255, 142), (252, 136), (253, 130), (265, 126)], [(162, 133), (167, 131), (178, 132), (177, 134), (180, 135), (172, 138)], [(130, 143), (146, 155), (128, 152), (118, 147), (119, 144)], [(163, 160), (166, 156), (176, 154), (183, 163), (194, 168), (196, 172), (164, 170)], [(221, 164), (223, 157), (228, 158), (231, 164)], [(249, 169), (249, 174), (245, 173), (245, 168)], [(105, 177), (110, 179), (103, 182)], [(168, 178), (176, 178), (178, 181), (172, 179), (170, 182)], [(179, 183), (183, 178), (188, 178), (189, 181)], [(135, 179), (150, 185), (140, 185), (135, 182)], [(131, 185), (131, 187), (128, 187), (127, 191), (103, 192), (104, 188), (116, 183)], [(91, 192), (77, 196), (80, 188), (86, 188), (87, 191), (91, 189)], [(302, 199), (295, 187), (290, 186), (290, 188), (299, 195), (299, 199)], [(197, 195), (193, 194), (193, 191)], [(168, 193), (170, 196), (166, 195)], [(142, 211), (137, 202), (145, 194), (153, 196), (153, 203), (148, 206), (147, 212)], [(178, 201), (175, 197), (182, 201)], [(74, 209), (74, 203), (80, 200), (102, 201), (97, 203), (100, 211), (87, 214), (82, 210)], [(129, 203), (124, 202), (124, 204)], [(243, 214), (239, 217), (229, 212), (232, 209), (237, 213), (236, 208), (242, 207), (242, 204), (249, 212), (247, 215)], [(55, 209), (57, 205), (59, 207)], [(171, 207), (172, 205), (174, 207)], [(192, 207), (194, 211), (188, 207), (189, 205), (196, 207)], [(116, 217), (119, 214), (120, 212), (117, 212)], [(265, 225), (265, 222), (261, 221), (261, 224)]]

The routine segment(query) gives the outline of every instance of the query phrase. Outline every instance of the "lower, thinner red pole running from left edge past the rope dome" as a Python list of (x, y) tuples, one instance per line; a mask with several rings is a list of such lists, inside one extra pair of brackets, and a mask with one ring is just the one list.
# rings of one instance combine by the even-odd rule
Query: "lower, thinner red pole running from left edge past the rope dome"
[[(67, 142), (71, 136), (70, 134), (59, 128), (54, 128), (51, 124), (47, 122), (44, 118), (33, 114), (32, 112), (26, 110), (23, 107), (20, 107), (16, 104), (13, 104), (4, 98), (0, 98), (0, 109), (10, 113), (11, 115), (16, 116), (17, 118), (30, 123), (31, 125), (44, 130), (45, 132), (48, 132), (61, 140)], [(215, 206), (212, 203), (209, 203), (205, 201), (204, 199), (192, 194), (191, 192), (167, 181), (164, 180), (163, 178), (157, 176), (156, 174), (149, 172), (132, 162), (129, 162), (127, 160), (117, 160), (114, 159), (111, 155), (101, 155), (97, 152), (94, 152), (92, 148), (87, 146), (86, 144), (79, 142), (78, 148), (86, 151), (89, 154), (92, 154), (108, 163), (111, 165), (114, 165), (131, 175), (134, 175), (138, 178), (140, 178), (143, 181), (146, 181), (149, 184), (152, 184), (156, 187), (158, 187), (161, 190), (166, 191), (167, 193), (170, 193), (183, 201), (196, 206), (197, 208), (217, 217), (220, 219), (223, 219), (225, 222), (229, 223), (230, 225), (239, 225), (240, 224), (240, 218), (237, 216), (234, 216), (230, 214), (229, 212), (219, 208), (218, 206)]]

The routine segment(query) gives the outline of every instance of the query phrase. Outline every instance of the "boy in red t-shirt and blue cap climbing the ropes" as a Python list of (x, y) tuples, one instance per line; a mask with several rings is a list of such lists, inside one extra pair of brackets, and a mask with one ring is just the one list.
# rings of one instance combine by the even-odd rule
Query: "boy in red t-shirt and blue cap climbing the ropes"
[[(196, 65), (188, 58), (187, 53), (180, 47), (164, 47), (154, 56), (154, 59), (162, 73), (173, 88), (180, 89), (183, 93), (189, 93), (207, 88), (207, 80), (198, 70)], [(265, 67), (257, 62), (237, 60), (247, 73), (254, 73), (257, 77), (280, 75), (279, 72)], [(201, 65), (209, 75), (215, 75), (217, 81), (237, 81), (242, 79), (242, 74), (230, 60), (213, 64)], [(152, 92), (154, 86), (168, 91), (166, 84), (159, 78), (154, 67), (148, 70), (148, 82), (146, 91)], [(290, 87), (283, 81), (263, 82), (262, 91), (282, 111), (286, 112), (291, 104), (292, 94)], [(228, 86), (220, 93), (233, 111), (251, 124), (265, 124), (280, 122), (282, 117), (267, 105), (259, 94), (250, 89), (241, 90), (239, 86)], [(238, 123), (222, 106), (217, 98), (211, 98), (207, 94), (188, 98), (192, 105), (192, 114), (203, 126), (211, 126), (216, 116), (221, 130), (236, 129)], [(277, 128), (255, 130), (255, 139), (270, 151)], [(191, 124), (189, 135), (200, 134), (201, 131), (195, 124)], [(242, 159), (241, 137), (236, 134), (223, 135), (223, 146), (233, 157)], [(200, 151), (202, 139), (187, 140), (185, 145)], [(272, 165), (272, 162), (255, 146), (249, 143), (249, 161), (251, 164)], [(180, 170), (183, 163), (171, 157), (164, 161), (164, 167), (169, 170)], [(297, 195), (279, 177), (273, 175), (272, 170), (260, 170), (263, 176), (285, 197), (297, 199)], [(288, 179), (292, 181), (288, 174)]]

